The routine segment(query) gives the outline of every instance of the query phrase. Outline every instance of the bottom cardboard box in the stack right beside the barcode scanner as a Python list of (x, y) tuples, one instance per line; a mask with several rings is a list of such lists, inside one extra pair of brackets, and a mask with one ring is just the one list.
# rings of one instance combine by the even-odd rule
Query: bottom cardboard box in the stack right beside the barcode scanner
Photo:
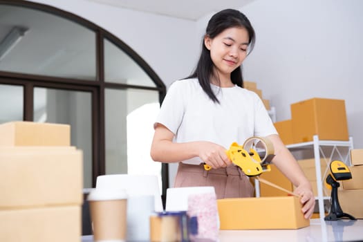
[(358, 219), (363, 218), (363, 189), (340, 189), (338, 198), (343, 212)]

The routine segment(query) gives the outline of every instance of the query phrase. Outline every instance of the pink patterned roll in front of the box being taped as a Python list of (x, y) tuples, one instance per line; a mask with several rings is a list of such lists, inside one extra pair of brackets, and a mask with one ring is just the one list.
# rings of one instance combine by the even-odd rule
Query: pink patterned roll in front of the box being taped
[(218, 240), (216, 194), (190, 194), (187, 214), (196, 216), (198, 219), (198, 234), (194, 236), (194, 239)]

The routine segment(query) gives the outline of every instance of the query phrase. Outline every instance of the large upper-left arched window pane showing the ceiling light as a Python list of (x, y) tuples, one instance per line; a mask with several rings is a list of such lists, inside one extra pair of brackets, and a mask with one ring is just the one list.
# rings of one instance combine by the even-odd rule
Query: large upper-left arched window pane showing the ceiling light
[(47, 12), (0, 5), (0, 71), (95, 80), (95, 32)]

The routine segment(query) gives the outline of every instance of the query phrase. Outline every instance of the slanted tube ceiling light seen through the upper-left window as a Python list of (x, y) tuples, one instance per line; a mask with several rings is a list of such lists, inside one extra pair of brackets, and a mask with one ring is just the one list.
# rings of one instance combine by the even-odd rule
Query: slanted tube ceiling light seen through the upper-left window
[(0, 43), (0, 62), (8, 55), (10, 50), (20, 41), (22, 37), (26, 34), (28, 28), (16, 26), (10, 30), (8, 35)]

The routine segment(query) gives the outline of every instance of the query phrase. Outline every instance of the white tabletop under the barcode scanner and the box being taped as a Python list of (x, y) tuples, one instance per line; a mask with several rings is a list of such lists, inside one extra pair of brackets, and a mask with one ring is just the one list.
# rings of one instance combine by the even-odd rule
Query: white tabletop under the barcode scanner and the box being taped
[[(92, 236), (82, 236), (82, 242), (92, 242)], [(219, 242), (233, 241), (363, 241), (363, 220), (322, 221), (311, 219), (310, 226), (299, 230), (221, 230)]]

